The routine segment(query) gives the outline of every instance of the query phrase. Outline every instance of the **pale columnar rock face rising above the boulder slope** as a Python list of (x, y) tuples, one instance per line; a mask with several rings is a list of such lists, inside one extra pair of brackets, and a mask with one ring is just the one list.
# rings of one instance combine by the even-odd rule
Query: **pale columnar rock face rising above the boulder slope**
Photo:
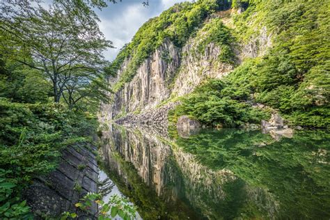
[[(171, 97), (190, 93), (203, 80), (221, 78), (233, 69), (231, 65), (217, 61), (221, 49), (216, 45), (207, 45), (204, 53), (196, 52), (197, 45), (198, 42), (192, 38), (179, 49), (166, 40), (141, 64), (132, 81), (112, 95), (112, 102), (102, 105), (102, 120), (157, 109), (159, 104)], [(129, 61), (123, 63), (116, 79), (109, 79), (109, 84), (120, 78), (127, 63)]]

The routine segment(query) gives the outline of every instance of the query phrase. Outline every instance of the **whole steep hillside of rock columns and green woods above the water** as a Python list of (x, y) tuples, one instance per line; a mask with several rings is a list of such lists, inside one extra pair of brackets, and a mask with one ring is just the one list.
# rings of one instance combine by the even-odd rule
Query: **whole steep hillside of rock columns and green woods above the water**
[[(159, 113), (159, 107), (178, 103), (180, 97), (189, 99), (197, 86), (221, 79), (217, 81), (227, 88), (215, 91), (226, 92), (216, 100), (207, 96), (193, 101), (182, 114), (208, 125), (260, 123), (267, 111), (258, 109), (258, 120), (256, 111), (246, 113), (248, 117), (237, 113), (239, 104), (247, 104), (248, 112), (258, 102), (290, 125), (327, 127), (329, 48), (324, 42), (329, 41), (329, 12), (312, 2), (244, 2), (225, 11), (216, 0), (176, 4), (143, 24), (111, 65), (113, 93), (111, 102), (102, 104), (102, 120), (166, 123), (166, 112)], [(206, 100), (210, 105), (205, 104), (203, 116), (193, 112), (195, 104)], [(218, 108), (221, 102), (235, 111)], [(217, 113), (211, 112), (213, 107)]]

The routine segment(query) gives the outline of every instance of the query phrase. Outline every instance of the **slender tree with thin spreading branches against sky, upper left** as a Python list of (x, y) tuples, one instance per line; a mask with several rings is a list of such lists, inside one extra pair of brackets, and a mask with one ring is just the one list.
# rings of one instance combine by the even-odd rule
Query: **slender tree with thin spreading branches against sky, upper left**
[(40, 6), (21, 8), (22, 12), (17, 10), (13, 17), (1, 19), (0, 53), (39, 70), (52, 82), (54, 102), (60, 102), (65, 87), (76, 79), (77, 72), (84, 72), (85, 77), (79, 79), (87, 84), (93, 79), (104, 79), (108, 62), (102, 52), (111, 47), (95, 17), (81, 19), (74, 11), (63, 9), (61, 4), (48, 10)]

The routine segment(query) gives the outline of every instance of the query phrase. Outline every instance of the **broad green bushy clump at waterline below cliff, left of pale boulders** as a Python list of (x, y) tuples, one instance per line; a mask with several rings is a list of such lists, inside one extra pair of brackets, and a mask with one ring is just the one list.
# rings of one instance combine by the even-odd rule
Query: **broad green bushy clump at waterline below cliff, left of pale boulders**
[(262, 118), (267, 118), (267, 113), (251, 107), (251, 104), (226, 96), (226, 87), (228, 85), (223, 81), (210, 79), (196, 88), (191, 95), (183, 98), (182, 104), (176, 107), (174, 114), (187, 114), (201, 120), (202, 123), (220, 123), (226, 127), (260, 123)]

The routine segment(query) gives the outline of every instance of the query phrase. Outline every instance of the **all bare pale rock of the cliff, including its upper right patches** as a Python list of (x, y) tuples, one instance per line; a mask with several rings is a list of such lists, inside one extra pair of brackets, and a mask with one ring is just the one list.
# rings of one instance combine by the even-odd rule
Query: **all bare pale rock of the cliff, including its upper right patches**
[[(230, 13), (235, 15), (237, 10), (226, 11), (223, 22), (233, 26), (230, 24)], [(207, 17), (201, 26), (210, 24), (213, 19), (221, 19), (221, 16), (223, 15), (214, 13)], [(162, 45), (139, 65), (132, 80), (111, 94), (112, 102), (102, 104), (102, 120), (125, 118), (131, 123), (141, 119), (145, 121), (147, 117), (143, 115), (151, 109), (158, 109), (167, 102), (173, 102), (177, 97), (191, 93), (206, 79), (223, 77), (233, 70), (235, 63), (242, 62), (244, 58), (264, 54), (272, 39), (264, 27), (249, 42), (241, 45), (233, 42), (231, 47), (235, 51), (235, 56), (233, 62), (228, 63), (219, 61), (223, 48), (216, 43), (209, 42), (200, 49), (205, 35), (205, 30), (200, 27), (182, 47), (175, 46), (171, 40), (164, 40)], [(130, 58), (123, 61), (116, 77), (109, 79), (109, 84), (115, 85), (120, 80), (129, 68), (130, 62)], [(125, 120), (120, 120), (120, 123)]]

